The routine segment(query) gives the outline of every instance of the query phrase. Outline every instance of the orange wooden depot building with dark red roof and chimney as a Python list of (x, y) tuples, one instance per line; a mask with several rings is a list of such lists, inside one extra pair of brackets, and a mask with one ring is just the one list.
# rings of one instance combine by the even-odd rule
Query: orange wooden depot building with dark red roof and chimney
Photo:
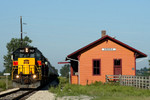
[(69, 54), (71, 84), (105, 82), (105, 75), (136, 75), (136, 59), (147, 57), (133, 47), (106, 35)]

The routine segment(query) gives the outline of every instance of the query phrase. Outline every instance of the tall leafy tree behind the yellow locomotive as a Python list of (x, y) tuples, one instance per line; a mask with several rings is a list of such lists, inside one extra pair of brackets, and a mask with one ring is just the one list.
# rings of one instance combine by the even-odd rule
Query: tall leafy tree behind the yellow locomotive
[[(25, 36), (23, 38), (23, 43), (22, 47), (30, 47), (30, 43), (32, 40), (29, 39), (29, 37)], [(6, 48), (7, 48), (7, 55), (4, 55), (4, 67), (5, 70), (4, 72), (11, 72), (11, 66), (12, 66), (12, 61), (11, 61), (11, 54), (14, 50), (18, 49), (21, 47), (21, 39), (18, 38), (12, 38), (9, 43), (7, 43)]]

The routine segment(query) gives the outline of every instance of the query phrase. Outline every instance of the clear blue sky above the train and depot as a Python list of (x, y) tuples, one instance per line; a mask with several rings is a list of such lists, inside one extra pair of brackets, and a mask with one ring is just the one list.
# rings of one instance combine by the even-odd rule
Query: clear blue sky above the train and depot
[[(57, 69), (65, 57), (99, 39), (101, 30), (150, 55), (149, 0), (1, 0), (0, 70), (6, 44), (23, 31)], [(148, 58), (149, 59), (149, 58)], [(137, 69), (148, 66), (148, 59)], [(140, 59), (137, 59), (139, 61)]]

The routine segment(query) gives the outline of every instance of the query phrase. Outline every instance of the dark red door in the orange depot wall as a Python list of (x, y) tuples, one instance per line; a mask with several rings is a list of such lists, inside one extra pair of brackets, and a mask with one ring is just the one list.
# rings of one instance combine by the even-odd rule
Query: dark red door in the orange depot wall
[(114, 75), (122, 75), (122, 60), (114, 59)]

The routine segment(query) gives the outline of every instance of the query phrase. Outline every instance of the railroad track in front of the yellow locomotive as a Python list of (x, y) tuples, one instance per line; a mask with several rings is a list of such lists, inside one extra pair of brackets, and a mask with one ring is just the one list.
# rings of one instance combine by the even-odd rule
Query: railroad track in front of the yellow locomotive
[(0, 95), (0, 100), (24, 100), (25, 96), (37, 91), (37, 89), (19, 89)]

